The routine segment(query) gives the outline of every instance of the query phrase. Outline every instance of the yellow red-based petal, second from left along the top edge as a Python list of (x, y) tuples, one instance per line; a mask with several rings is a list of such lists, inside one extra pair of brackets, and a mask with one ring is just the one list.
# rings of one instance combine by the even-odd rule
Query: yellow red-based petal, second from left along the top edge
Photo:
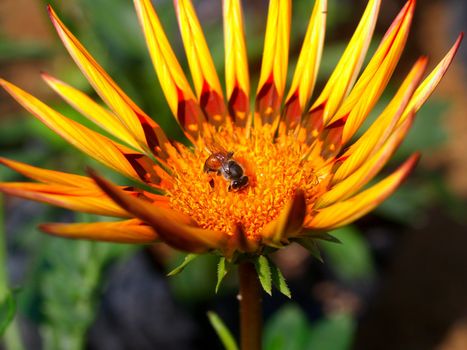
[(175, 0), (178, 25), (201, 108), (214, 125), (226, 116), (224, 96), (203, 30), (191, 0)]

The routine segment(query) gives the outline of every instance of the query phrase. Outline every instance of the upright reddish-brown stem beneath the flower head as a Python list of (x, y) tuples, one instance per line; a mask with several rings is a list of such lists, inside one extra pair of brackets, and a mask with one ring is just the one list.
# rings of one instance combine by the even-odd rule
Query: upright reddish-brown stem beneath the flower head
[(249, 261), (238, 266), (240, 280), (240, 344), (242, 350), (261, 350), (261, 285), (255, 266)]

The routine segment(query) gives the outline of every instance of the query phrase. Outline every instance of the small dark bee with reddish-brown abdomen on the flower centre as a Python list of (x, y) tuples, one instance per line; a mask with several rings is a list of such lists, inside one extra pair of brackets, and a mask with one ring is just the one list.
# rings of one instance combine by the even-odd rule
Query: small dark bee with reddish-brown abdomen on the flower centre
[[(229, 181), (229, 191), (237, 191), (248, 185), (248, 176), (244, 175), (242, 166), (233, 159), (233, 152), (228, 152), (216, 145), (211, 147), (211, 155), (204, 162), (203, 171), (205, 173), (217, 173)], [(214, 181), (211, 182), (211, 187)]]

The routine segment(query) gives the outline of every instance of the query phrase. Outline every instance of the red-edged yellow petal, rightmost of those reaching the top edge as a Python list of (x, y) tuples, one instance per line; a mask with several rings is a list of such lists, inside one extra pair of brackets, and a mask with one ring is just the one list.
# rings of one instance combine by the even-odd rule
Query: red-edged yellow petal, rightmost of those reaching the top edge
[(386, 88), (407, 41), (414, 8), (414, 0), (407, 2), (348, 98), (330, 119), (330, 124), (345, 120), (342, 144), (346, 144), (355, 134)]

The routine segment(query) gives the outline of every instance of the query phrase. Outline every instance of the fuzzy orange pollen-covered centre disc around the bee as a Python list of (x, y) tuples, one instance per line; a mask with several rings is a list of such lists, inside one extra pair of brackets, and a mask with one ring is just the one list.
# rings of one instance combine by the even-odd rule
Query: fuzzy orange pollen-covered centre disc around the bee
[[(249, 239), (261, 239), (262, 229), (278, 217), (298, 189), (307, 204), (315, 201), (326, 182), (318, 177), (316, 161), (306, 159), (308, 146), (293, 135), (273, 138), (267, 128), (251, 131), (214, 130), (209, 140), (200, 139), (195, 149), (177, 144), (168, 162), (172, 182), (167, 189), (170, 206), (192, 217), (205, 229), (233, 234), (241, 225)], [(229, 181), (203, 166), (215, 144), (233, 152), (233, 160), (248, 176), (248, 185), (229, 191)], [(308, 207), (308, 205), (307, 205)]]

